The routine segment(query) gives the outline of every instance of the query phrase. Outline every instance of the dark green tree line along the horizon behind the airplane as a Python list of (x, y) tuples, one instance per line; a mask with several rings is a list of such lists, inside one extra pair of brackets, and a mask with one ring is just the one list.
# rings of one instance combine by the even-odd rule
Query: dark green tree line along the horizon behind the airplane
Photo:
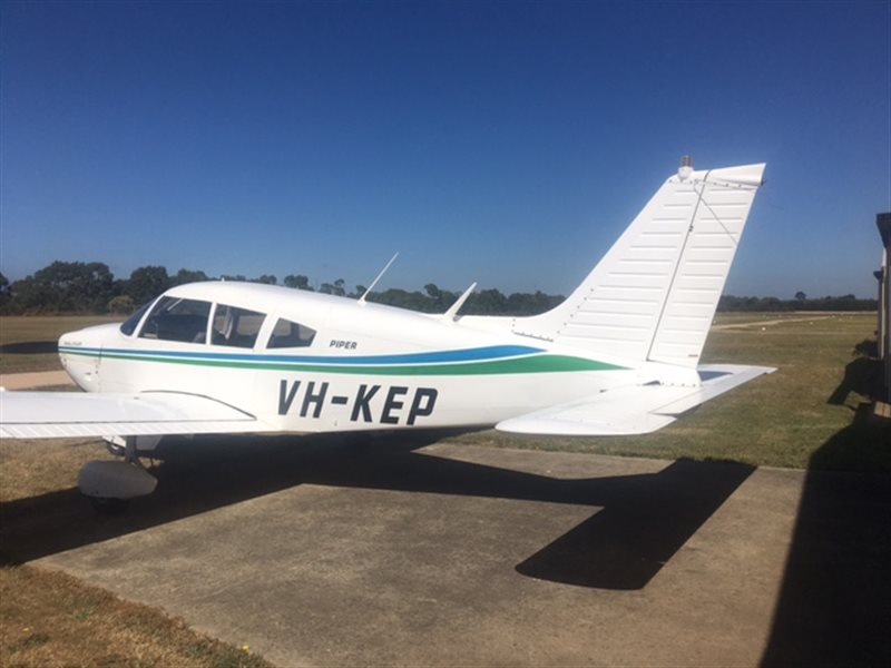
[[(255, 278), (243, 275), (223, 275), (226, 281), (251, 281), (278, 285), (278, 278), (263, 274)], [(145, 266), (134, 269), (129, 278), (116, 278), (108, 265), (99, 262), (53, 262), (22, 278), (10, 283), (0, 273), (0, 314), (104, 314), (128, 315), (137, 307), (176, 285), (197, 281), (217, 279), (202, 271), (179, 269), (169, 274), (163, 266)], [(303, 274), (288, 274), (281, 285), (295, 289), (359, 298), (365, 287), (346, 287), (342, 278), (322, 283), (316, 287)], [(424, 291), (389, 288), (371, 293), (369, 301), (423, 313), (443, 313), (459, 297), (459, 293), (440, 289), (429, 283)], [(505, 295), (497, 288), (481, 289), (472, 294), (461, 313), (466, 315), (535, 315), (544, 313), (564, 301), (561, 295), (542, 292), (513, 293)], [(875, 311), (877, 299), (859, 299), (854, 295), (841, 297), (809, 298), (799, 292), (792, 299), (777, 297), (736, 297), (724, 295), (718, 311)]]

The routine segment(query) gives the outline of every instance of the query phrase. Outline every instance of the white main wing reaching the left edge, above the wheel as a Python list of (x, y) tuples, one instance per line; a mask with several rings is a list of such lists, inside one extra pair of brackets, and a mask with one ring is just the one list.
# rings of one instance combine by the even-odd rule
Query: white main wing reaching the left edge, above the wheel
[(274, 431), (207, 396), (179, 392), (0, 392), (0, 436), (136, 436)]

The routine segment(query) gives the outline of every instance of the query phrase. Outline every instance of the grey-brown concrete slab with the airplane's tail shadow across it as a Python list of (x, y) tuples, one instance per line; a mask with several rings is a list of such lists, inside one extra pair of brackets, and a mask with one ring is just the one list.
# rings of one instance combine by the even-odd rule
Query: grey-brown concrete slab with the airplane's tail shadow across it
[(293, 484), (35, 563), (281, 666), (751, 666), (771, 641), (805, 472), (448, 444), (315, 456)]

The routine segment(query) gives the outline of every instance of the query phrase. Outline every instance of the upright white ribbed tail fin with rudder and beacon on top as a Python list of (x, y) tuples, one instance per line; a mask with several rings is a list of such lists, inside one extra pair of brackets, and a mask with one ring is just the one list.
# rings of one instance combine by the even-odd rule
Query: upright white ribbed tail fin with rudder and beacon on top
[(695, 369), (763, 174), (685, 161), (562, 304), (513, 332)]

